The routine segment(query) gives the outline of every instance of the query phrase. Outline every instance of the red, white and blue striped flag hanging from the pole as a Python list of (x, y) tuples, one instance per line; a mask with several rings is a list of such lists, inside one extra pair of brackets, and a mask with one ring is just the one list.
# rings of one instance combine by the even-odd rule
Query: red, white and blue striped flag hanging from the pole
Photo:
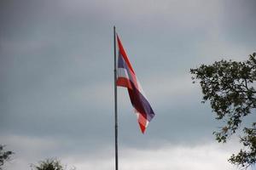
[(154, 117), (154, 111), (152, 110), (147, 97), (143, 93), (143, 88), (137, 80), (131, 62), (125, 53), (125, 48), (118, 36), (117, 39), (119, 45), (117, 86), (128, 89), (131, 105), (134, 107), (135, 113), (137, 114), (137, 121), (144, 133), (148, 126), (148, 122)]

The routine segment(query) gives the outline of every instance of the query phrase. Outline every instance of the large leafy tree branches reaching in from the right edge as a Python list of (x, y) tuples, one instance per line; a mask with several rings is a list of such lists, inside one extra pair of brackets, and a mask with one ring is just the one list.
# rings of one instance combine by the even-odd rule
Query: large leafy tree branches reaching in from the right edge
[[(190, 69), (192, 79), (200, 80), (203, 94), (202, 103), (210, 101), (216, 119), (224, 122), (216, 140), (225, 143), (241, 127), (245, 116), (255, 114), (256, 109), (256, 53), (250, 54), (243, 62), (232, 60), (216, 61), (212, 65), (201, 65)], [(256, 122), (243, 128), (240, 142), (243, 148), (229, 161), (238, 166), (247, 167), (256, 163)]]

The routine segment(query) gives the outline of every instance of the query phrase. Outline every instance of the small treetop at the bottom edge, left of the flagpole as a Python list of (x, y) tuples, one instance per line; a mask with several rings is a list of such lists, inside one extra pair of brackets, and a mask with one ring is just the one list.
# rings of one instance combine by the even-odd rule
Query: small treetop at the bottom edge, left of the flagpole
[[(61, 161), (57, 159), (46, 159), (44, 161), (39, 161), (38, 165), (32, 164), (32, 170), (65, 170), (65, 166), (61, 164)], [(75, 170), (73, 167), (71, 170)]]

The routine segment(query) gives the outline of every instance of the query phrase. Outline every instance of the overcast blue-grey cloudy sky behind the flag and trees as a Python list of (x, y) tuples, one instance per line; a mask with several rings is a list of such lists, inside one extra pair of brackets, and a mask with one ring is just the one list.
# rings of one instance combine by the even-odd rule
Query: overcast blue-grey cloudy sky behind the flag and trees
[[(119, 88), (119, 168), (234, 170), (236, 137), (218, 144), (189, 69), (256, 50), (256, 2), (1, 0), (0, 142), (10, 170), (49, 157), (114, 167), (113, 26), (156, 113), (140, 133)], [(255, 120), (249, 116), (246, 120)]]

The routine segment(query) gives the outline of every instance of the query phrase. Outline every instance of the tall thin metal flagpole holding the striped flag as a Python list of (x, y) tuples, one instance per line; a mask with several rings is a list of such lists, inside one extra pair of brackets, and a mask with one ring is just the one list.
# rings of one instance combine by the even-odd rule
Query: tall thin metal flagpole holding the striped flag
[(117, 115), (117, 71), (116, 71), (116, 33), (113, 26), (113, 75), (114, 75), (114, 143), (115, 143), (115, 170), (119, 169), (118, 156), (118, 115)]

